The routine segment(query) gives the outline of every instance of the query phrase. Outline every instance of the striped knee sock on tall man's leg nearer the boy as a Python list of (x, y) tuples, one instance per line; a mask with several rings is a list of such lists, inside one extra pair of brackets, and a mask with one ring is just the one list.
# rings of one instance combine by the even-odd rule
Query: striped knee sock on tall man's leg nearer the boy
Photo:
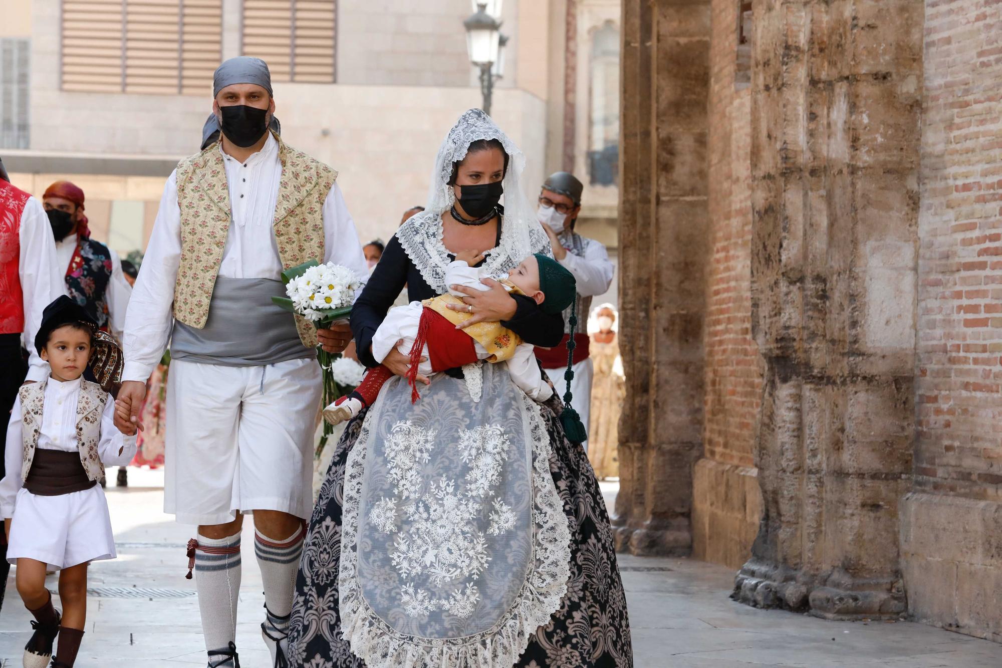
[[(194, 548), (201, 630), (209, 662), (225, 658), (212, 650), (236, 642), (236, 597), (240, 591), (240, 535), (209, 539), (198, 535)], [(228, 664), (222, 664), (228, 665)]]

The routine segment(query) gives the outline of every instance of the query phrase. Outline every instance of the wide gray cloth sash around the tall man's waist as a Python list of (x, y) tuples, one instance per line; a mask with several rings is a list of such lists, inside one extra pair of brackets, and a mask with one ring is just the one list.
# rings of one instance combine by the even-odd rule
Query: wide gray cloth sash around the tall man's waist
[(271, 279), (218, 278), (202, 329), (174, 321), (170, 358), (218, 366), (265, 366), (316, 357), (293, 314), (272, 302), (286, 286)]

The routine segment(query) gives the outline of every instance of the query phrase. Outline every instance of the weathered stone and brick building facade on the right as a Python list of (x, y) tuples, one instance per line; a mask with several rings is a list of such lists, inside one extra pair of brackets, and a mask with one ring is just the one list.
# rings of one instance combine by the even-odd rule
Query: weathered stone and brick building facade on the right
[(1002, 640), (1002, 6), (622, 26), (620, 548)]

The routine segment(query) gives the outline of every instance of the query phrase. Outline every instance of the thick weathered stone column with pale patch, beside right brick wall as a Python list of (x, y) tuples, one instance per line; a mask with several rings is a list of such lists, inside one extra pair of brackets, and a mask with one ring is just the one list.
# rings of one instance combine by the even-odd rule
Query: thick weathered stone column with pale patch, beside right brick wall
[(734, 598), (905, 610), (923, 3), (758, 0), (753, 326), (764, 518)]

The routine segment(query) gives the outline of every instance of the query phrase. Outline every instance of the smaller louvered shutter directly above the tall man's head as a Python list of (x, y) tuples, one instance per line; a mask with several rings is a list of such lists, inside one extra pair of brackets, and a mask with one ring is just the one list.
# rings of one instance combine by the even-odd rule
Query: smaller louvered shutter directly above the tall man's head
[(275, 81), (333, 82), (336, 0), (243, 0), (243, 54)]

